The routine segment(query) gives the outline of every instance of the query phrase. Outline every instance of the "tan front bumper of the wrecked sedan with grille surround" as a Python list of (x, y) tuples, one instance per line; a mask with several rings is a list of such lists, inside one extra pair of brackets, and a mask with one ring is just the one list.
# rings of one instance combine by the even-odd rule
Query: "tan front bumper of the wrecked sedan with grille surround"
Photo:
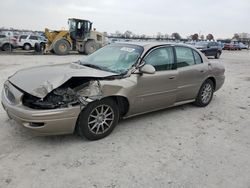
[(22, 93), (9, 82), (5, 85), (15, 97), (9, 100), (5, 88), (2, 91), (2, 105), (8, 116), (39, 135), (70, 134), (75, 130), (80, 106), (53, 110), (37, 110), (24, 106)]

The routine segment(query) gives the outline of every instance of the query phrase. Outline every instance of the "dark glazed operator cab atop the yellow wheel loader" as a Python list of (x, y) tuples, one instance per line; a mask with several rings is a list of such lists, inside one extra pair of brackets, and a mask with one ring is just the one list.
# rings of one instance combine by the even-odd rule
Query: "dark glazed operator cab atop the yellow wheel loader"
[(70, 37), (74, 40), (83, 40), (89, 37), (92, 23), (88, 20), (71, 18), (68, 20)]

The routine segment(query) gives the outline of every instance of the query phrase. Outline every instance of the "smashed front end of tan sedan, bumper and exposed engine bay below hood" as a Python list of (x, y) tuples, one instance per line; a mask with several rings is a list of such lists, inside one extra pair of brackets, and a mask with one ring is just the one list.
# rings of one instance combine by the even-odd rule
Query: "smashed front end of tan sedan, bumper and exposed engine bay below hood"
[(81, 82), (69, 80), (39, 98), (6, 81), (2, 105), (11, 119), (38, 134), (73, 133), (81, 109), (102, 96), (99, 81), (81, 79)]

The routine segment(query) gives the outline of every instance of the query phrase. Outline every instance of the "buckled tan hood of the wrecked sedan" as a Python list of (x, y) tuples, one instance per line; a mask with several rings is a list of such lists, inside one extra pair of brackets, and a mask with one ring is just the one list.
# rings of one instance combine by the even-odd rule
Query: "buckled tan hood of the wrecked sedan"
[(9, 81), (33, 96), (44, 98), (72, 77), (105, 78), (115, 75), (77, 63), (67, 63), (23, 69), (9, 77)]

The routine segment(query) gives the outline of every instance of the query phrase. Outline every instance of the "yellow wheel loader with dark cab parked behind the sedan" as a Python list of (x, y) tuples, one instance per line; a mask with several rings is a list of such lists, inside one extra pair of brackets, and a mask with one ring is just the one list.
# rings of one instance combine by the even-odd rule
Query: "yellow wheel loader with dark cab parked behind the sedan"
[(90, 21), (70, 18), (68, 24), (69, 30), (45, 29), (48, 39), (45, 53), (66, 55), (73, 50), (88, 55), (107, 44), (107, 38), (102, 33), (92, 30)]

